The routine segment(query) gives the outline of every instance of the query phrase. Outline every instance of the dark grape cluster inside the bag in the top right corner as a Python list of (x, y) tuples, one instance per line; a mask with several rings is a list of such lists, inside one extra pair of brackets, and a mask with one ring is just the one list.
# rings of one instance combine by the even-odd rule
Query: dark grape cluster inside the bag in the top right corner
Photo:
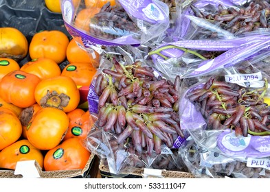
[(267, 1), (251, 1), (243, 8), (224, 8), (218, 5), (218, 11), (214, 14), (203, 13), (199, 8), (190, 5), (195, 16), (207, 19), (212, 23), (218, 23), (220, 27), (233, 34), (243, 34), (259, 28), (269, 27), (270, 4)]

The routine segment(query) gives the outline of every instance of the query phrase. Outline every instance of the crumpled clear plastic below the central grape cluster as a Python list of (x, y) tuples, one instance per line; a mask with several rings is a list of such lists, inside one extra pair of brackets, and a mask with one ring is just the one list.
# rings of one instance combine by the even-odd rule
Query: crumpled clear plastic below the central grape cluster
[(183, 171), (183, 163), (177, 154), (177, 149), (161, 146), (161, 154), (153, 152), (150, 156), (146, 151), (138, 153), (132, 141), (124, 145), (117, 143), (117, 135), (93, 128), (85, 141), (91, 152), (109, 165), (110, 173), (120, 175), (132, 173), (132, 168), (166, 169), (168, 171)]

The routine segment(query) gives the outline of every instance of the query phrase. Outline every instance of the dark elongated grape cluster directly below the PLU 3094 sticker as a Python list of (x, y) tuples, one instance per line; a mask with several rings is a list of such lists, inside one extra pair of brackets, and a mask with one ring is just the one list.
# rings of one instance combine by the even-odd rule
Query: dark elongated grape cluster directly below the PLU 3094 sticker
[(267, 87), (266, 79), (264, 87), (252, 89), (210, 77), (203, 88), (194, 88), (187, 97), (210, 129), (234, 129), (237, 136), (269, 135), (270, 106), (263, 99)]

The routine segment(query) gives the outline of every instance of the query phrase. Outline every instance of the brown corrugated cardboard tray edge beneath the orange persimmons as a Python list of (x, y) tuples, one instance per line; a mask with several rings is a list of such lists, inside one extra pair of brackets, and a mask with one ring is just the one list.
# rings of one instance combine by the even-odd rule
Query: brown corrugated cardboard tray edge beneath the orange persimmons
[[(98, 167), (95, 162), (96, 156), (91, 154), (87, 165), (84, 169), (73, 169), (73, 170), (60, 170), (60, 171), (42, 171), (38, 163), (35, 163), (36, 169), (41, 178), (95, 178), (98, 174)], [(13, 170), (0, 170), (0, 178), (23, 178), (23, 176), (15, 175)]]

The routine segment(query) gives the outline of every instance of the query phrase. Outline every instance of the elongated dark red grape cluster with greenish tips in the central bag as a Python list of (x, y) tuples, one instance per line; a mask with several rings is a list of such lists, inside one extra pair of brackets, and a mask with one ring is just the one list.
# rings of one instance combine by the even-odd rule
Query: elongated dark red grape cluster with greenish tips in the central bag
[(137, 152), (143, 149), (161, 153), (161, 144), (172, 147), (177, 136), (183, 137), (179, 121), (180, 77), (175, 82), (152, 67), (136, 61), (130, 65), (112, 59), (113, 70), (103, 69), (95, 80), (99, 96), (98, 127), (117, 134), (117, 143), (131, 138)]

